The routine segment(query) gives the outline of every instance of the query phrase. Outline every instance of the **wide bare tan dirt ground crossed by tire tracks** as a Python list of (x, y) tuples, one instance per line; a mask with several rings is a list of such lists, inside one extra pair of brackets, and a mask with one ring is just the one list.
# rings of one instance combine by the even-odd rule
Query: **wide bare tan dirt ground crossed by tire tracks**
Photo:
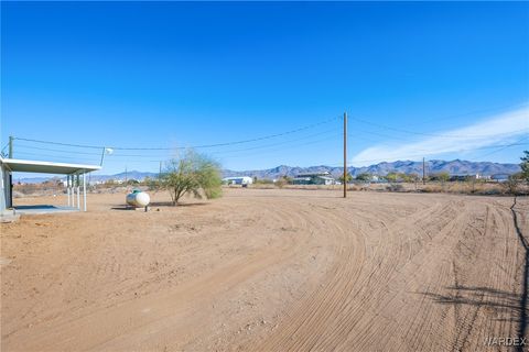
[(1, 350), (515, 350), (487, 341), (527, 333), (528, 198), (339, 196), (89, 195), (1, 224)]

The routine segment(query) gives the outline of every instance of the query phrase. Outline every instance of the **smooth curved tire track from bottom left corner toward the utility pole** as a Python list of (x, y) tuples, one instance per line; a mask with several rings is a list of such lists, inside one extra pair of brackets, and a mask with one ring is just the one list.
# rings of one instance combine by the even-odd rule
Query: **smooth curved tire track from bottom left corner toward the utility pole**
[[(184, 284), (172, 293), (154, 294), (125, 302), (118, 307), (69, 318), (66, 321), (34, 327), (31, 340), (23, 339), (24, 341), (21, 341), (14, 333), (9, 337), (6, 343), (8, 345), (17, 344), (23, 351), (75, 350), (79, 345), (85, 346), (84, 349), (122, 350), (127, 345), (134, 346), (131, 341), (134, 339), (131, 339), (131, 337), (134, 334), (141, 336), (140, 331), (145, 329), (162, 331), (164, 326), (180, 326), (182, 329), (177, 336), (181, 337), (185, 336), (184, 331), (199, 330), (197, 326), (190, 326), (190, 322), (196, 320), (196, 317), (190, 320), (182, 318), (192, 316), (197, 311), (197, 305), (207, 305), (207, 301), (214, 299), (220, 292), (229, 290), (231, 287), (244, 283), (246, 278), (272, 265), (289, 262), (292, 257), (302, 253), (306, 245), (311, 244), (311, 231), (321, 229), (321, 233), (324, 234), (331, 226), (323, 217), (314, 217), (312, 213), (300, 215), (288, 202), (280, 207), (272, 201), (261, 200), (261, 204), (268, 211), (267, 216), (274, 218), (274, 227), (296, 228), (301, 230), (298, 231), (298, 234), (301, 235), (279, 239), (270, 246), (250, 255), (250, 257), (236, 257), (222, 268)], [(183, 302), (185, 297), (193, 297), (193, 302)], [(202, 322), (197, 321), (197, 323)], [(83, 336), (79, 337), (78, 331), (84, 331)], [(73, 339), (74, 336), (77, 337)]]

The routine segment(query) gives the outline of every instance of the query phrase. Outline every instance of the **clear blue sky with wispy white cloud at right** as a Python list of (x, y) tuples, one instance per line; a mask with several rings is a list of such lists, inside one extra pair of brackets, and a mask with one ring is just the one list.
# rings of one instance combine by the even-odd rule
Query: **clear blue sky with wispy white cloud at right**
[[(525, 2), (2, 2), (1, 145), (202, 148), (231, 169), (349, 161), (518, 163), (529, 148)], [(514, 145), (512, 145), (514, 144)], [(15, 157), (100, 150), (15, 141)], [(104, 174), (168, 151), (115, 150)]]

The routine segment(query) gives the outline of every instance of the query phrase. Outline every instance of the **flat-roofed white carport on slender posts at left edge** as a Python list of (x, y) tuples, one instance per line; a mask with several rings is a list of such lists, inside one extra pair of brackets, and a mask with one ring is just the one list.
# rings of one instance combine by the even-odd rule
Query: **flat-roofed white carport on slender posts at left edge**
[[(17, 213), (48, 213), (57, 211), (86, 211), (86, 174), (101, 168), (99, 165), (66, 164), (0, 157), (0, 213), (14, 209)], [(12, 173), (66, 175), (67, 202), (64, 207), (41, 205), (13, 207)], [(83, 190), (82, 190), (83, 189)], [(80, 200), (83, 195), (83, 201)]]

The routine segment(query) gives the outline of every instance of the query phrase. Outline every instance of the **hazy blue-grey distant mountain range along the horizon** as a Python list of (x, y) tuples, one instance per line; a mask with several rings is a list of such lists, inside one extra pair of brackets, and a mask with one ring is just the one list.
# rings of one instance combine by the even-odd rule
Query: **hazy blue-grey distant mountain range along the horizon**
[[(411, 161), (398, 161), (393, 163), (379, 163), (376, 165), (365, 166), (365, 167), (348, 167), (348, 172), (357, 176), (361, 173), (369, 173), (374, 175), (385, 176), (388, 173), (397, 172), (397, 173), (404, 173), (404, 174), (422, 174), (422, 163), (421, 162), (411, 162)], [(429, 161), (427, 162), (427, 173), (428, 174), (436, 174), (446, 172), (451, 175), (497, 175), (497, 174), (515, 174), (520, 170), (520, 166), (518, 164), (499, 164), (499, 163), (490, 163), (490, 162), (468, 162), (468, 161)], [(309, 167), (298, 167), (298, 166), (287, 166), (281, 165), (273, 168), (268, 169), (255, 169), (255, 170), (230, 170), (224, 169), (223, 176), (250, 176), (257, 178), (268, 178), (273, 179), (281, 176), (289, 176), (294, 177), (298, 174), (304, 173), (322, 173), (328, 172), (334, 176), (338, 176), (343, 174), (343, 167), (333, 167), (333, 166), (309, 166)], [(130, 170), (126, 173), (119, 173), (115, 175), (90, 175), (90, 180), (107, 180), (107, 179), (143, 179), (145, 177), (156, 177), (156, 173), (143, 173), (137, 170)], [(23, 183), (42, 183), (50, 177), (33, 177), (33, 178), (22, 178), (20, 179)], [(19, 179), (14, 179), (13, 182), (18, 182)]]

